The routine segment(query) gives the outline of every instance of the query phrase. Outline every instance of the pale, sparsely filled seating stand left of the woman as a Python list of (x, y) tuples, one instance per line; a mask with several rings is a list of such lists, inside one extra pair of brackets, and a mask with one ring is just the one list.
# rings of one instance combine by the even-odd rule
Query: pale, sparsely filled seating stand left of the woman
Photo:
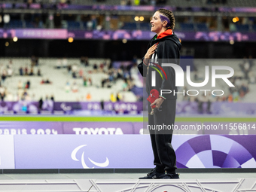
[[(23, 82), (23, 86), (28, 93), (28, 99), (33, 99), (38, 101), (41, 97), (46, 99), (46, 97), (54, 96), (55, 101), (88, 101), (86, 96), (88, 93), (91, 94), (90, 101), (105, 101), (110, 100), (111, 93), (117, 94), (120, 93), (122, 100), (125, 102), (136, 102), (136, 95), (129, 90), (123, 89), (124, 81), (122, 78), (117, 79), (116, 81), (110, 81), (105, 84), (105, 87), (102, 87), (102, 79), (109, 78), (108, 66), (104, 66), (103, 71), (95, 71), (93, 65), (82, 66), (80, 64), (80, 59), (67, 59), (67, 66), (72, 66), (73, 72), (76, 74), (74, 78), (73, 72), (68, 72), (66, 67), (62, 66), (62, 59), (47, 59), (40, 58), (38, 66), (33, 67), (34, 75), (20, 75), (20, 67), (28, 68), (30, 72), (31, 66), (29, 65), (30, 59), (14, 59), (6, 58), (0, 59), (2, 70), (5, 66), (8, 66), (8, 63), (12, 60), (12, 69), (14, 70), (14, 75), (2, 81), (2, 87), (6, 87), (8, 90), (8, 96), (6, 96), (6, 101), (13, 101), (14, 98), (17, 98), (18, 94), (18, 84)], [(96, 64), (98, 68), (105, 62), (105, 59), (90, 59), (90, 63)], [(107, 62), (110, 62), (107, 59)], [(59, 65), (59, 63), (61, 65)], [(41, 76), (37, 75), (38, 69), (41, 71)], [(72, 71), (71, 70), (71, 71)], [(87, 86), (84, 86), (83, 77), (79, 77), (79, 71), (82, 70), (84, 77), (91, 79), (92, 85), (87, 83)], [(138, 71), (131, 70), (131, 76), (134, 79), (134, 82), (138, 81), (139, 75)], [(50, 81), (50, 84), (45, 83), (45, 81)], [(26, 82), (30, 81), (31, 85), (29, 89), (26, 89)], [(44, 83), (42, 84), (42, 81)], [(67, 88), (67, 82), (69, 82), (69, 88)], [(136, 83), (137, 86), (142, 87), (142, 83)], [(74, 90), (75, 89), (75, 90)], [(11, 96), (12, 95), (12, 96)]]

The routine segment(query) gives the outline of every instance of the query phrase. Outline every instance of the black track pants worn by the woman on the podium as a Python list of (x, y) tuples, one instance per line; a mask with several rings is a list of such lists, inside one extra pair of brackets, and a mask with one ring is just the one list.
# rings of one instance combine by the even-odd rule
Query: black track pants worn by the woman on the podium
[[(175, 123), (176, 99), (164, 100), (159, 110), (154, 109), (154, 115), (151, 115), (151, 107), (148, 102), (148, 125), (151, 136), (151, 145), (154, 153), (154, 165), (157, 172), (167, 171), (174, 173), (176, 167), (176, 155), (172, 148), (173, 130), (159, 130), (162, 126), (167, 127)], [(158, 127), (158, 129), (157, 129)]]

